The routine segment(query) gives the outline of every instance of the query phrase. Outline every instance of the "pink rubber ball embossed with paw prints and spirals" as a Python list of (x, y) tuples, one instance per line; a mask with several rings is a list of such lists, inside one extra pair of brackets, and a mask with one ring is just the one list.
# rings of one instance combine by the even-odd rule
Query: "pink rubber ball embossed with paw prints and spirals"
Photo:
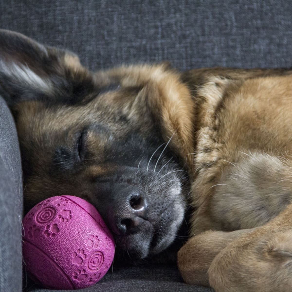
[(25, 267), (47, 288), (86, 288), (112, 264), (112, 234), (95, 207), (81, 198), (46, 199), (27, 213), (23, 226)]

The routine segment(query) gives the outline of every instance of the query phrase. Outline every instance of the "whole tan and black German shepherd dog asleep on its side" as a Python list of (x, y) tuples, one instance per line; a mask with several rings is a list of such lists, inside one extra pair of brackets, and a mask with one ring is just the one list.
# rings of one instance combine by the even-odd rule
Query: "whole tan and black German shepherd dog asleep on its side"
[(187, 283), (292, 290), (291, 70), (92, 73), (70, 52), (1, 30), (0, 94), (18, 129), (26, 211), (82, 197), (117, 253), (139, 260), (167, 250), (191, 208), (178, 252)]

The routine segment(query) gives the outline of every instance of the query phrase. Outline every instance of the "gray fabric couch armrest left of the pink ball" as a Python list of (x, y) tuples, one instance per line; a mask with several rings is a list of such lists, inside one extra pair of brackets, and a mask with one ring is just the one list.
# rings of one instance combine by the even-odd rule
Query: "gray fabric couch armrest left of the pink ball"
[(13, 118), (0, 97), (0, 291), (21, 291), (22, 172)]

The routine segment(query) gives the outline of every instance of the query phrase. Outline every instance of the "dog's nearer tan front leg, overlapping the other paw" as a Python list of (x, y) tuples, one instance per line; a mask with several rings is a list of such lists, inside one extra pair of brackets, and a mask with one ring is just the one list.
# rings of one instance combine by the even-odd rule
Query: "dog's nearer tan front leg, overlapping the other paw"
[(290, 292), (291, 274), (292, 204), (229, 244), (208, 270), (216, 292)]

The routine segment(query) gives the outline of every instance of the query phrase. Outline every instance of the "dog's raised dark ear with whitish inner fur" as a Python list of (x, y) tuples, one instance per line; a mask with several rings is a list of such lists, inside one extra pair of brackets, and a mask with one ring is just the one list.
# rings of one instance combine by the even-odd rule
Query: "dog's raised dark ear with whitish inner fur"
[(0, 95), (8, 105), (25, 100), (76, 104), (98, 88), (76, 55), (0, 29)]

